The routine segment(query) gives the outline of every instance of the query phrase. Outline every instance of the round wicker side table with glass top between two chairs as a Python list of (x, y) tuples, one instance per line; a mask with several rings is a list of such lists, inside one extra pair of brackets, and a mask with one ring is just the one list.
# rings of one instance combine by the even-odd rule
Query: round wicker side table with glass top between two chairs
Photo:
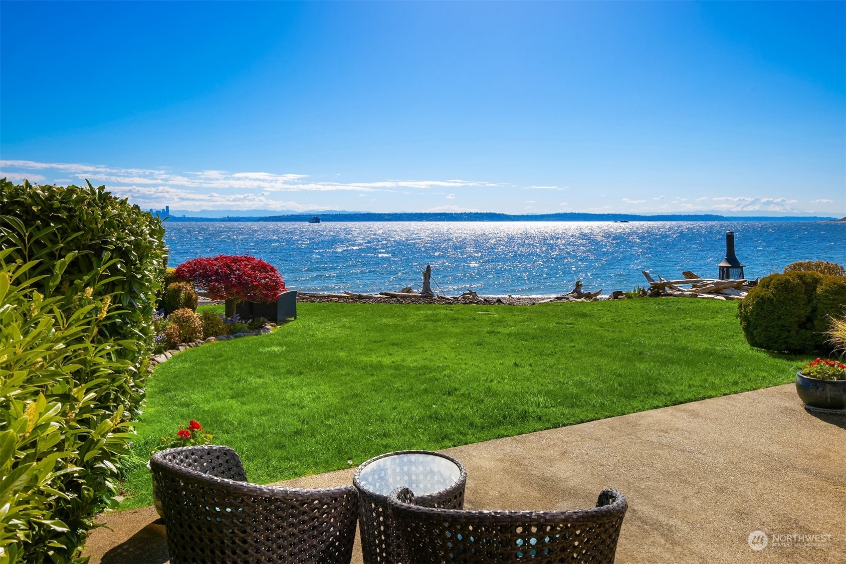
[(353, 484), (359, 490), (365, 564), (390, 564), (403, 558), (399, 543), (393, 539), (387, 496), (406, 486), (421, 506), (462, 509), (467, 471), (458, 460), (440, 452), (389, 452), (361, 464), (355, 470)]

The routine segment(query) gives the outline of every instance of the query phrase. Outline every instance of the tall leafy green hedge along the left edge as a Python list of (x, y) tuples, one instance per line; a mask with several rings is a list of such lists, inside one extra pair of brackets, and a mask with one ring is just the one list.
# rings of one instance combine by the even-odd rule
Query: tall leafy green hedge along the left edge
[(117, 494), (164, 229), (91, 184), (3, 179), (0, 202), (0, 560), (73, 561)]

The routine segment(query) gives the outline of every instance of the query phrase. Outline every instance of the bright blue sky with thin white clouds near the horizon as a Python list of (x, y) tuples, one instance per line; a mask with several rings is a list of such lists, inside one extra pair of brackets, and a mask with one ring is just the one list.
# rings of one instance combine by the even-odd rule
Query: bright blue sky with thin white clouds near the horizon
[(172, 210), (846, 214), (846, 3), (0, 3), (0, 167)]

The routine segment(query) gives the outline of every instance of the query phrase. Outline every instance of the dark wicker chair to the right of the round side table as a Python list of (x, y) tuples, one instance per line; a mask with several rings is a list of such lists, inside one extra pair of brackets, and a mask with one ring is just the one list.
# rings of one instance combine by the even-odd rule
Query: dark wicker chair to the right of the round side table
[(408, 488), (388, 498), (403, 562), (613, 562), (629, 504), (602, 490), (575, 511), (473, 511), (420, 507)]

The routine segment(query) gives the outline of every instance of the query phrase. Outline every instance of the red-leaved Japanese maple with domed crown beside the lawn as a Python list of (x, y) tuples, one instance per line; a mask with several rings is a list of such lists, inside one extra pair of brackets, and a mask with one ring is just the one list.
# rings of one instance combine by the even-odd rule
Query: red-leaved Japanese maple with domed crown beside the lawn
[(227, 315), (233, 315), (239, 302), (270, 302), (285, 291), (276, 267), (250, 255), (189, 260), (176, 267), (173, 277), (193, 282), (197, 291), (211, 299), (227, 300)]

